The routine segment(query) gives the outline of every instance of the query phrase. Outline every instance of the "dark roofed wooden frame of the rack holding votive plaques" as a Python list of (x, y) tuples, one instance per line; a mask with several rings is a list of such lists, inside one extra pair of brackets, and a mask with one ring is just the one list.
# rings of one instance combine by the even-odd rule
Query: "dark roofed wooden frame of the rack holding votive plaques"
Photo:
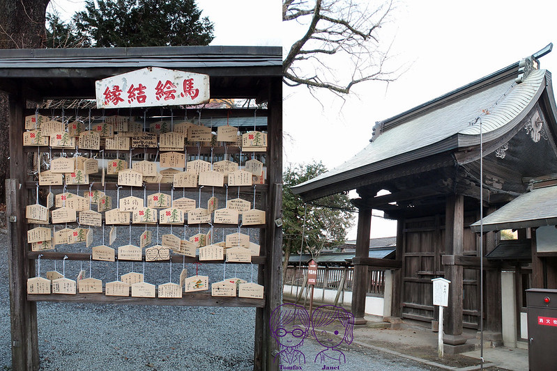
[[(34, 54), (33, 52), (36, 52)], [(78, 53), (79, 52), (79, 53)], [(229, 59), (227, 59), (229, 52)], [(257, 53), (260, 54), (257, 54)], [(0, 62), (3, 56), (22, 56), (24, 58), (28, 51), (3, 51), (0, 53)], [(68, 301), (89, 303), (121, 303), (121, 304), (148, 304), (148, 305), (172, 305), (172, 306), (247, 306), (255, 307), (256, 320), (254, 324), (254, 370), (278, 370), (279, 365), (273, 363), (273, 354), (277, 345), (269, 333), (269, 318), (273, 309), (282, 303), (281, 279), (282, 279), (282, 231), (280, 223), (282, 205), (282, 50), (280, 47), (162, 47), (162, 48), (137, 48), (137, 49), (111, 49), (103, 68), (102, 62), (96, 63), (93, 69), (75, 68), (64, 74), (64, 68), (57, 65), (59, 61), (66, 58), (84, 55), (102, 56), (104, 51), (80, 50), (75, 52), (61, 51), (31, 51), (33, 55), (42, 55), (46, 59), (36, 68), (15, 68), (10, 76), (0, 74), (0, 87), (6, 88), (10, 107), (10, 179), (6, 181), (7, 187), (7, 215), (10, 231), (10, 250), (8, 258), (10, 261), (10, 310), (12, 313), (12, 359), (13, 370), (38, 370), (38, 338), (36, 301)], [(203, 63), (205, 54), (214, 53), (218, 61), (207, 67)], [(70, 296), (52, 296), (43, 294), (26, 294), (27, 278), (35, 276), (35, 259), (38, 253), (30, 251), (26, 243), (27, 223), (25, 219), (25, 205), (28, 205), (29, 194), (35, 187), (35, 183), (29, 181), (26, 176), (26, 168), (29, 152), (27, 148), (19, 145), (22, 140), (24, 116), (26, 115), (26, 95), (31, 94), (33, 99), (54, 97), (56, 89), (43, 86), (42, 83), (49, 82), (56, 86), (56, 81), (61, 81), (63, 88), (58, 90), (61, 96), (56, 97), (83, 97), (90, 98), (94, 95), (91, 91), (91, 82), (95, 79), (109, 75), (128, 72), (132, 68), (128, 64), (119, 65), (116, 56), (135, 58), (142, 63), (142, 56), (149, 55), (151, 62), (155, 56), (161, 56), (158, 63), (160, 67), (164, 64), (166, 56), (188, 55), (199, 61), (184, 61), (183, 65), (175, 69), (192, 70), (209, 74), (211, 81), (211, 93), (214, 97), (247, 97), (267, 102), (266, 113), (259, 110), (258, 114), (268, 117), (268, 148), (266, 152), (267, 179), (263, 187), (261, 198), (264, 210), (267, 212), (266, 224), (261, 226), (250, 226), (260, 228), (261, 253), (252, 262), (259, 265), (258, 280), (265, 287), (264, 299), (247, 299), (238, 297), (211, 297), (211, 294), (184, 294), (182, 299), (148, 299), (137, 297), (106, 297), (103, 294), (76, 294)], [(252, 68), (246, 67), (252, 63)], [(219, 59), (220, 58), (220, 59)], [(252, 58), (252, 62), (250, 60)], [(197, 60), (196, 60), (197, 61)], [(219, 64), (222, 61), (222, 64)], [(238, 61), (234, 66), (234, 61)], [(175, 62), (173, 66), (175, 66)], [(189, 63), (189, 65), (188, 65)], [(196, 64), (197, 63), (197, 64)], [(135, 69), (135, 68), (133, 68)], [(83, 71), (79, 73), (79, 71)], [(4, 70), (6, 72), (6, 70)], [(253, 72), (253, 74), (250, 74)], [(253, 78), (252, 78), (253, 77)], [(33, 80), (38, 79), (38, 80)], [(9, 80), (9, 84), (8, 84)], [(38, 81), (38, 83), (37, 83)], [(213, 86), (214, 85), (214, 86)], [(79, 87), (72, 90), (70, 87)], [(157, 109), (158, 111), (158, 109)], [(231, 116), (247, 116), (253, 110), (224, 110)], [(33, 110), (34, 112), (34, 110)], [(134, 111), (132, 110), (132, 113)], [(223, 110), (215, 110), (224, 113)], [(155, 187), (155, 186), (151, 186)], [(245, 191), (247, 191), (246, 187)], [(154, 189), (154, 188), (153, 188)], [(165, 189), (165, 186), (161, 187)], [(217, 226), (217, 225), (215, 225)], [(61, 253), (43, 253), (43, 259), (61, 259)], [(67, 255), (67, 254), (66, 254)], [(89, 260), (89, 254), (74, 253), (68, 258), (73, 260)], [(182, 257), (173, 260), (182, 261)], [(188, 262), (194, 262), (197, 258), (188, 258)]]

